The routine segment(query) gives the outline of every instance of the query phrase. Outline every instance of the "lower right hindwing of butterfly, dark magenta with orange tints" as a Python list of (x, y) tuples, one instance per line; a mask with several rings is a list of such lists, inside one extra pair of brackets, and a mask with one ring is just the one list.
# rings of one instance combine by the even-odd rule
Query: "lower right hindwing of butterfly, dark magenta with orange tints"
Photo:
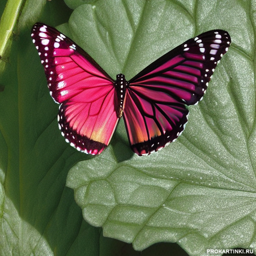
[(173, 141), (187, 121), (188, 110), (183, 103), (175, 99), (170, 102), (165, 95), (162, 98), (164, 92), (149, 91), (126, 91), (124, 123), (131, 148), (138, 155)]

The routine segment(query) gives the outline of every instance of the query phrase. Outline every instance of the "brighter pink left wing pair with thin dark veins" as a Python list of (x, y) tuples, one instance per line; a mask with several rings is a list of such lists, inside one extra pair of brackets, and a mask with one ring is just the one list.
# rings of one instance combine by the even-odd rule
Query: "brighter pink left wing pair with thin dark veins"
[(36, 23), (31, 37), (44, 66), (50, 95), (61, 103), (61, 134), (79, 151), (99, 154), (118, 121), (112, 78), (55, 28)]

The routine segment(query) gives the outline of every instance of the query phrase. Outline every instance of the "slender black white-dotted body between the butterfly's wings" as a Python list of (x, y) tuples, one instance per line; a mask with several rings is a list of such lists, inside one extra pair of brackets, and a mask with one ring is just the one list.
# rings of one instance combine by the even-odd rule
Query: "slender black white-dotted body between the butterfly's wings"
[(125, 92), (128, 85), (129, 83), (128, 81), (126, 81), (124, 74), (116, 75), (116, 80), (114, 81), (114, 87), (115, 87), (115, 92), (117, 97), (115, 109), (116, 109), (117, 117), (119, 118), (122, 116)]

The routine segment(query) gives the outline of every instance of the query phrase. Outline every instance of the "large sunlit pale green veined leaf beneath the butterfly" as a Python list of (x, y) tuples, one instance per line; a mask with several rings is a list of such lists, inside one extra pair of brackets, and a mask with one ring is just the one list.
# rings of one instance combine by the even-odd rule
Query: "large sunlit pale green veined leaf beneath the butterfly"
[[(131, 78), (174, 46), (205, 30), (227, 30), (228, 53), (203, 100), (189, 107), (182, 135), (160, 152), (128, 151), (121, 121), (111, 145), (68, 173), (83, 217), (106, 236), (142, 250), (177, 242), (206, 248), (254, 247), (255, 23), (244, 1), (98, 1), (80, 5), (69, 28), (114, 78)], [(255, 6), (253, 6), (254, 8)], [(118, 8), (118, 12), (115, 10)]]

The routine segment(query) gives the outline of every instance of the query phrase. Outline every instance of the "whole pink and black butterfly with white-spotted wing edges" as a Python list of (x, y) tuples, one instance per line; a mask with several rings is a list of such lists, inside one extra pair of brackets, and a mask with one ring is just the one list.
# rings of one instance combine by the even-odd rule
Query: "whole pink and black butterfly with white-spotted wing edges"
[(55, 28), (35, 23), (38, 51), (51, 97), (59, 103), (61, 134), (77, 150), (99, 154), (123, 116), (132, 150), (150, 154), (174, 141), (187, 122), (186, 105), (197, 103), (227, 51), (224, 30), (188, 39), (126, 80), (112, 79), (95, 60)]

